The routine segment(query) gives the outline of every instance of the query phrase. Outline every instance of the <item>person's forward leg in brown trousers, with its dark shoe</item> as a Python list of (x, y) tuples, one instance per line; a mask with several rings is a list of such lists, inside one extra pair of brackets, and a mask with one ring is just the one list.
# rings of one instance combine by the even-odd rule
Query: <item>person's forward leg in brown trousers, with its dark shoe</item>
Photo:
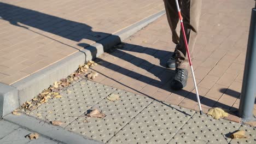
[[(181, 12), (183, 16), (183, 24), (185, 34), (188, 40), (190, 54), (193, 52), (196, 37), (199, 28), (199, 19), (201, 15), (201, 0), (182, 0)], [(179, 40), (179, 45), (176, 50), (176, 75), (171, 82), (171, 87), (174, 89), (182, 89), (187, 85), (189, 62), (183, 33)]]

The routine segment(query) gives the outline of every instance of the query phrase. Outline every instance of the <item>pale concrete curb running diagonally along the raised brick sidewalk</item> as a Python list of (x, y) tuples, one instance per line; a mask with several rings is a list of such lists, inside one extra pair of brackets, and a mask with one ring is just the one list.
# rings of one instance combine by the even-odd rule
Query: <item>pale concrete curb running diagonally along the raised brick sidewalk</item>
[[(69, 74), (73, 73), (75, 70), (77, 70), (79, 65), (84, 64), (86, 61), (89, 61), (91, 59), (94, 59), (100, 56), (104, 51), (112, 48), (113, 46), (120, 43), (122, 40), (130, 37), (132, 34), (136, 33), (141, 28), (147, 26), (149, 23), (155, 21), (156, 19), (158, 19), (160, 16), (164, 14), (165, 14), (165, 10), (161, 10), (156, 14), (150, 15), (149, 17), (146, 17), (145, 19), (137, 23), (134, 23), (129, 27), (126, 27), (121, 31), (118, 31), (112, 35), (109, 35), (108, 37), (100, 41), (97, 41), (97, 43), (92, 44), (88, 47), (85, 47), (85, 49), (80, 50), (74, 53), (73, 55), (62, 59), (59, 62), (56, 62), (50, 65), (49, 67), (42, 69), (37, 73), (34, 73), (26, 77), (25, 79), (22, 79), (18, 82), (13, 83), (13, 85), (11, 85), (10, 87), (13, 87), (14, 89), (16, 89), (15, 91), (18, 91), (18, 99), (17, 97), (14, 98), (13, 96), (13, 98), (11, 97), (9, 98), (9, 101), (13, 99), (13, 101), (15, 101), (14, 102), (15, 104), (18, 103), (19, 105), (22, 105), (23, 103), (25, 103), (25, 101), (31, 100), (37, 94), (42, 92), (43, 89), (48, 88), (55, 81), (58, 81), (63, 77), (67, 77)], [(2, 93), (1, 88), (0, 90)], [(14, 91), (14, 90), (11, 90), (11, 91)], [(6, 92), (3, 91), (3, 92), (8, 93), (8, 91)], [(2, 109), (7, 111), (0, 111), (1, 117), (7, 115), (11, 111), (19, 107), (19, 105), (15, 105), (15, 106), (9, 105), (8, 102), (5, 102), (7, 100), (4, 101), (1, 98), (0, 98), (0, 107), (4, 103), (8, 104), (8, 105), (3, 105), (4, 109), (3, 108)]]

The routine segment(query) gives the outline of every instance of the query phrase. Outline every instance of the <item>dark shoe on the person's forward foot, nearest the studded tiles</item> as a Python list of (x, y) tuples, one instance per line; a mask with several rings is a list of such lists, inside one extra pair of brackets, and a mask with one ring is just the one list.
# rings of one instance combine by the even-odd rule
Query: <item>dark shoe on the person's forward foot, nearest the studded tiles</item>
[(171, 82), (171, 88), (179, 90), (184, 88), (187, 85), (188, 80), (188, 70), (187, 69), (175, 69), (176, 74), (174, 79)]

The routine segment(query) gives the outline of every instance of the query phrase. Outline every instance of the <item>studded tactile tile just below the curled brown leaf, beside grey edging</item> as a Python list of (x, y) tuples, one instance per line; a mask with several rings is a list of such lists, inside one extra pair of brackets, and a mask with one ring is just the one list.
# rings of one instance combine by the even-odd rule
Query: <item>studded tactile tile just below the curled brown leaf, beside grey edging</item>
[(114, 113), (104, 118), (79, 117), (68, 124), (66, 129), (84, 135), (89, 139), (106, 143), (130, 121), (130, 118), (117, 116)]

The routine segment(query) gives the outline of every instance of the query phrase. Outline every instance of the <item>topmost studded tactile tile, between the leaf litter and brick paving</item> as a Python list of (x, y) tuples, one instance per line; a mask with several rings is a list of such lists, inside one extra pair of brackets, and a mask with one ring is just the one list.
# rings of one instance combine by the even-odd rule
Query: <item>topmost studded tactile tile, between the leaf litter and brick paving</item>
[(80, 80), (62, 92), (63, 97), (80, 101), (88, 105), (94, 105), (114, 92), (115, 88), (102, 85), (89, 80)]

